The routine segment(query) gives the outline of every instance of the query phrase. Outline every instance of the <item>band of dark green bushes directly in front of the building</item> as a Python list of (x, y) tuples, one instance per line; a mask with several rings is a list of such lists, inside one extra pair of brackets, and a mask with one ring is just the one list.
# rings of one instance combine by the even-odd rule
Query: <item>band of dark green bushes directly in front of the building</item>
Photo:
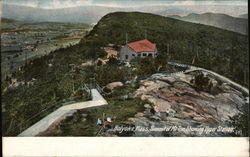
[(105, 86), (108, 83), (121, 81), (125, 83), (130, 81), (132, 76), (146, 77), (159, 70), (164, 71), (170, 67), (166, 65), (167, 60), (162, 58), (142, 58), (131, 62), (132, 67), (118, 66), (116, 58), (111, 57), (106, 65), (95, 68), (96, 80), (100, 85)]

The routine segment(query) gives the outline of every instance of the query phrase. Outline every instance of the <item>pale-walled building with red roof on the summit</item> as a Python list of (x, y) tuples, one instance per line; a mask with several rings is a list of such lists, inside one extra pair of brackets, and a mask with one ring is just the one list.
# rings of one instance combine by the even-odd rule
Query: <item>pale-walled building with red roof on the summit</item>
[(156, 44), (147, 39), (128, 43), (121, 48), (119, 58), (122, 61), (131, 61), (142, 57), (156, 57)]

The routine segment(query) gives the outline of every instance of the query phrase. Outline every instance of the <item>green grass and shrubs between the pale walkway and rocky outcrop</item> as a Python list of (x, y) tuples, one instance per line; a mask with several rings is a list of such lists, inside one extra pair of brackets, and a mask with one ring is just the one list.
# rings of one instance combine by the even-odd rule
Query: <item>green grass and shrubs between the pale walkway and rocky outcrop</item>
[[(145, 102), (140, 99), (123, 98), (124, 95), (130, 95), (135, 90), (136, 87), (130, 85), (115, 90), (106, 97), (109, 102), (107, 106), (78, 111), (72, 117), (64, 120), (59, 128), (48, 136), (96, 136), (100, 130), (96, 121), (98, 118), (102, 119), (103, 114), (105, 114), (105, 118), (116, 117), (112, 123), (113, 126), (125, 123), (129, 117), (144, 110)], [(87, 114), (86, 120), (83, 120), (82, 114)]]

